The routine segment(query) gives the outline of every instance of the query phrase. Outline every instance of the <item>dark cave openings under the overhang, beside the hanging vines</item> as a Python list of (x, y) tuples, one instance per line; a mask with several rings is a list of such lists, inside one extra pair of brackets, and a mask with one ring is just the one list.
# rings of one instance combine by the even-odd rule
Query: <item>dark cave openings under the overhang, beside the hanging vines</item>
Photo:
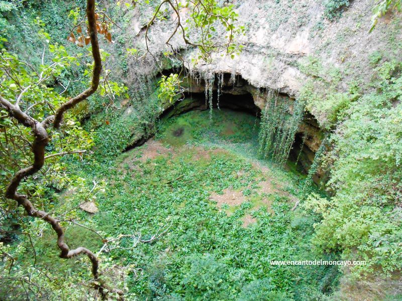
[[(165, 70), (161, 73), (169, 75), (171, 70)], [(219, 79), (221, 77), (221, 79)], [(163, 111), (160, 118), (170, 118), (191, 110), (209, 110), (210, 104), (206, 95), (206, 83), (202, 76), (198, 75), (198, 80), (191, 79), (187, 90), (183, 93), (182, 100), (176, 101), (173, 105)], [(217, 83), (221, 83), (218, 87)], [(252, 114), (261, 118), (261, 106), (264, 105), (264, 93), (267, 89), (258, 89), (248, 83), (240, 75), (233, 76), (230, 73), (215, 74), (215, 81), (212, 87), (212, 106), (213, 108), (225, 108), (234, 111)], [(207, 91), (209, 92), (209, 91)], [(219, 93), (219, 95), (218, 95)], [(284, 93), (278, 93), (278, 99), (291, 99)], [(266, 97), (266, 96), (265, 96)], [(260, 105), (260, 107), (257, 105)], [(173, 133), (179, 137), (182, 132), (177, 130)], [(143, 137), (135, 144), (129, 145), (126, 151), (143, 144), (150, 137)], [(297, 129), (294, 141), (292, 143), (288, 162), (300, 173), (307, 174), (315, 157), (315, 152), (321, 143), (321, 130), (316, 118), (309, 112), (306, 112), (302, 124)], [(314, 181), (320, 182), (324, 175), (316, 175)]]

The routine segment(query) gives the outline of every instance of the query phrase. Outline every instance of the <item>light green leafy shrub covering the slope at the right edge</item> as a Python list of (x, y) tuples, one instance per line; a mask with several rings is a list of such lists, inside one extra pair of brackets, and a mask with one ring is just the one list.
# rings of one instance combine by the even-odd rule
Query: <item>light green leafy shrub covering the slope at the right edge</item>
[(345, 259), (366, 260), (355, 275), (389, 274), (402, 261), (402, 75), (387, 62), (376, 72), (376, 92), (359, 98), (331, 137), (331, 201), (311, 196), (306, 206), (322, 214), (315, 241)]

